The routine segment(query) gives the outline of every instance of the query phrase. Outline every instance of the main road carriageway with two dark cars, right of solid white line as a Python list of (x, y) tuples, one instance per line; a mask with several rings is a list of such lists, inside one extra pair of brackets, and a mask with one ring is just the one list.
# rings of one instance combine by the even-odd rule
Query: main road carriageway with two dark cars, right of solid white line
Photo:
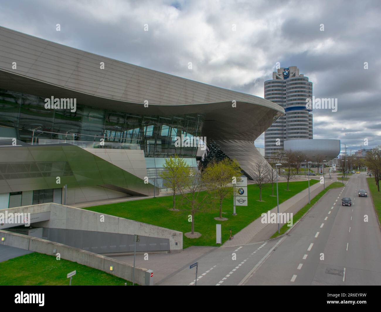
[[(359, 189), (368, 190), (365, 173), (331, 190), (245, 285), (381, 285), (381, 232)], [(341, 205), (343, 197), (352, 207)]]

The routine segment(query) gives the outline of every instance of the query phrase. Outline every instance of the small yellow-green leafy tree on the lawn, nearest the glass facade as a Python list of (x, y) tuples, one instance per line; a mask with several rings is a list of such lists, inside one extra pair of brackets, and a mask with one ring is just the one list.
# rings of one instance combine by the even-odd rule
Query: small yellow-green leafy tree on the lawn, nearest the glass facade
[(170, 156), (165, 159), (163, 166), (166, 170), (160, 173), (160, 178), (163, 178), (163, 185), (172, 189), (173, 207), (176, 210), (176, 193), (180, 192), (187, 182), (190, 166), (184, 158), (179, 158), (178, 155)]

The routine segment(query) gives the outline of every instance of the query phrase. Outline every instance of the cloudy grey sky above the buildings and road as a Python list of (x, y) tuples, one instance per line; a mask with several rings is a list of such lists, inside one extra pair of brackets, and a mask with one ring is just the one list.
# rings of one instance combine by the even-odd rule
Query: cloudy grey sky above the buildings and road
[[(315, 97), (338, 99), (337, 112), (313, 112), (314, 139), (340, 139), (352, 152), (364, 139), (365, 148), (381, 145), (379, 0), (1, 0), (0, 6), (4, 27), (259, 97), (277, 62), (298, 66)], [(263, 147), (263, 134), (255, 144)]]

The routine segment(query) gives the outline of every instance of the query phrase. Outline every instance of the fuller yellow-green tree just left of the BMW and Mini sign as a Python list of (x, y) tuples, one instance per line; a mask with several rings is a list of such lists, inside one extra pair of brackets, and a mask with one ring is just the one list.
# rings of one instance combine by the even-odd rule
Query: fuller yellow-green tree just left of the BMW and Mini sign
[(210, 192), (219, 200), (219, 218), (222, 218), (222, 202), (228, 194), (233, 194), (233, 177), (237, 182), (242, 175), (237, 160), (224, 158), (216, 161), (213, 159), (203, 171), (203, 180)]

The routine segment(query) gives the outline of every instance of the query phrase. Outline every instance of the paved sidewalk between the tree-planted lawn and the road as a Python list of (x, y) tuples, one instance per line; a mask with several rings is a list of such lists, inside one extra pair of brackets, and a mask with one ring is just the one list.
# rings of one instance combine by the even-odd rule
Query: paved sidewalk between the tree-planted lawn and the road
[[(336, 177), (332, 179), (325, 178), (325, 186), (327, 187), (331, 183), (337, 181)], [(323, 184), (316, 183), (310, 186), (311, 199), (319, 194), (323, 190)], [(282, 204), (279, 204), (279, 212), (292, 212), (296, 213), (308, 203), (308, 188), (299, 192), (295, 196), (287, 199)], [(275, 206), (270, 212), (277, 213), (277, 207)], [(282, 226), (282, 225), (281, 225)], [(243, 228), (237, 234), (234, 234), (234, 239), (227, 241), (222, 247), (228, 246), (241, 246), (248, 243), (254, 243), (259, 241), (265, 241), (271, 237), (278, 229), (278, 224), (264, 224), (261, 222), (261, 217), (251, 222), (248, 226)]]

